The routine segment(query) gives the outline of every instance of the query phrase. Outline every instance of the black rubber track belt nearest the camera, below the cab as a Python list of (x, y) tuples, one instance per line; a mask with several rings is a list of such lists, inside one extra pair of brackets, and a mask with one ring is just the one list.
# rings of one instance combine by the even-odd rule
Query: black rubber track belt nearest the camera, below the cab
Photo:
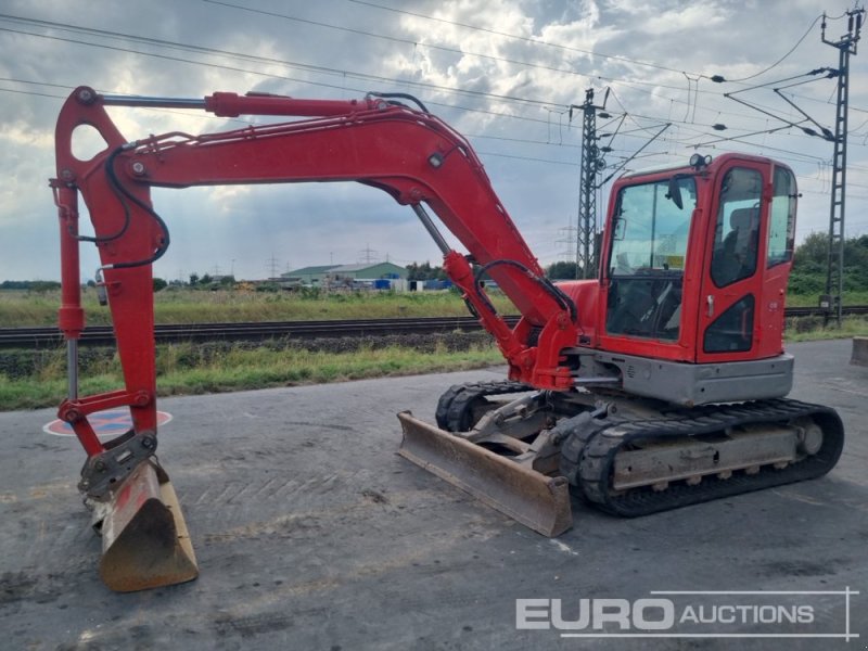
[[(815, 454), (784, 468), (766, 464), (752, 472), (727, 473), (726, 478), (706, 474), (699, 482), (669, 482), (662, 489), (612, 487), (615, 458), (637, 444), (713, 435), (745, 425), (780, 425), (796, 419), (813, 420), (822, 432), (822, 442)], [(582, 414), (571, 421), (567, 426), (572, 432), (561, 448), (561, 469), (571, 489), (595, 507), (624, 518), (822, 476), (838, 462), (844, 444), (843, 424), (833, 409), (788, 399), (700, 407), (659, 419), (592, 419)]]

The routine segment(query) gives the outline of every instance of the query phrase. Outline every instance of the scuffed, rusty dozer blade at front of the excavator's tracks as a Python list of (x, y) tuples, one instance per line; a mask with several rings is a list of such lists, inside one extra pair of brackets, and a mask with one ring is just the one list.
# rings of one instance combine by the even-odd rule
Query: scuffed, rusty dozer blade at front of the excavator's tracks
[(559, 536), (573, 525), (564, 477), (550, 477), (460, 436), (398, 413), (404, 439), (398, 454), (467, 490), (544, 536)]

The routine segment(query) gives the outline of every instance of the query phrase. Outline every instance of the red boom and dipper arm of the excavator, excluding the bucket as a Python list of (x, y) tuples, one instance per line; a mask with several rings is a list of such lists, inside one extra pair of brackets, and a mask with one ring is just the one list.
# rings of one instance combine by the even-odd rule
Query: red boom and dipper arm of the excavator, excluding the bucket
[[(116, 104), (201, 107), (218, 116), (316, 117), (200, 136), (170, 132), (130, 142), (105, 112), (106, 105)], [(82, 125), (97, 129), (107, 143), (88, 162), (72, 151), (73, 133)], [(71, 258), (64, 265), (64, 282), (78, 283), (73, 263), (79, 242), (75, 195), (80, 192), (93, 222), (125, 369), (153, 374), (150, 365), (142, 367), (139, 359), (152, 355), (145, 342), (153, 319), (145, 286), (151, 282), (151, 263), (168, 246), (168, 228), (151, 207), (152, 187), (357, 181), (413, 208), (441, 247), (446, 272), (496, 337), (511, 379), (540, 388), (572, 385), (560, 350), (576, 342), (574, 305), (545, 279), (467, 140), (424, 111), (381, 97), (322, 101), (215, 93), (204, 100), (161, 100), (103, 97), (79, 88), (61, 113), (56, 143), (53, 186), (62, 247)], [(425, 205), (469, 256), (450, 250)], [(497, 281), (524, 317), (514, 329), (494, 311), (470, 260)], [(72, 289), (64, 293), (71, 297), (68, 304), (64, 301), (61, 318), (61, 328), (72, 339), (82, 326), (76, 318), (74, 293)], [(127, 376), (128, 385), (137, 385), (135, 391), (150, 391), (149, 382)]]

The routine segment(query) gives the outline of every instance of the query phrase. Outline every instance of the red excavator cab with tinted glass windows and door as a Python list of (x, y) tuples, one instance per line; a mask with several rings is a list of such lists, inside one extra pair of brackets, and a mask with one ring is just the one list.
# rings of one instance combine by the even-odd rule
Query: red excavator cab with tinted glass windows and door
[(727, 154), (622, 177), (604, 234), (600, 345), (681, 362), (782, 353), (795, 179)]

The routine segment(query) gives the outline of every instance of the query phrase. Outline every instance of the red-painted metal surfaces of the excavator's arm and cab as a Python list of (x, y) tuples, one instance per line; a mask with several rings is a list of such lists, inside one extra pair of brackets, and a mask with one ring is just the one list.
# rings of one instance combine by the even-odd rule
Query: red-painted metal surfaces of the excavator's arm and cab
[[(604, 268), (599, 281), (563, 284), (578, 308), (574, 320), (570, 306), (539, 282), (542, 269), (501, 205), (470, 143), (436, 117), (376, 99), (311, 101), (214, 93), (204, 104), (218, 115), (267, 114), (308, 119), (201, 136), (173, 132), (126, 145), (129, 139), (119, 132), (94, 91), (76, 89), (64, 104), (56, 128), (58, 178), (52, 186), (61, 220), (64, 291), (60, 322), (67, 339), (78, 336), (84, 327), (77, 289), (79, 242), (73, 237), (79, 193), (89, 208), (95, 234), (108, 240), (98, 247), (102, 264), (111, 266), (148, 259), (158, 248), (162, 230), (142, 207), (151, 206), (152, 187), (356, 181), (387, 192), (399, 204), (426, 203), (467, 247), (474, 263), (496, 263), (488, 273), (522, 315), (513, 329), (488, 308), (475, 286), (468, 259), (454, 251), (444, 259), (447, 272), (497, 340), (513, 380), (538, 388), (570, 387), (571, 369), (565, 366), (562, 350), (576, 345), (685, 362), (754, 359), (780, 350), (778, 335), (783, 311), (763, 306), (773, 298), (782, 302), (789, 264), (765, 272), (761, 254), (755, 276), (725, 290), (709, 284), (714, 238), (710, 224), (715, 215), (719, 179), (728, 168), (742, 165), (760, 170), (764, 184), (768, 184), (773, 164), (767, 159), (725, 155), (698, 177), (697, 209), (689, 234), (692, 244), (684, 270), (682, 326), (677, 341), (661, 342), (607, 333), (610, 281)], [(72, 133), (81, 125), (94, 128), (107, 143), (105, 151), (91, 161), (79, 161), (72, 153)], [(126, 145), (124, 151), (117, 153), (122, 145)], [(120, 199), (108, 180), (105, 166), (113, 153), (113, 169), (136, 201)], [(691, 173), (689, 168), (678, 171)], [(628, 183), (663, 180), (671, 175), (668, 170), (622, 178), (614, 184), (613, 196)], [(126, 226), (125, 203), (129, 210)], [(767, 212), (764, 205), (763, 215), (767, 216)], [(610, 214), (603, 254), (612, 243), (611, 224)], [(509, 264), (497, 264), (498, 260)], [(155, 432), (157, 424), (151, 265), (110, 268), (104, 278), (125, 388), (67, 401), (61, 408), (61, 417), (72, 423), (89, 455), (103, 449), (87, 423), (90, 413), (128, 406), (137, 432)], [(720, 314), (744, 293), (756, 296), (755, 345), (744, 353), (703, 353), (700, 342), (710, 320), (703, 316), (702, 302), (713, 295), (716, 314)]]

